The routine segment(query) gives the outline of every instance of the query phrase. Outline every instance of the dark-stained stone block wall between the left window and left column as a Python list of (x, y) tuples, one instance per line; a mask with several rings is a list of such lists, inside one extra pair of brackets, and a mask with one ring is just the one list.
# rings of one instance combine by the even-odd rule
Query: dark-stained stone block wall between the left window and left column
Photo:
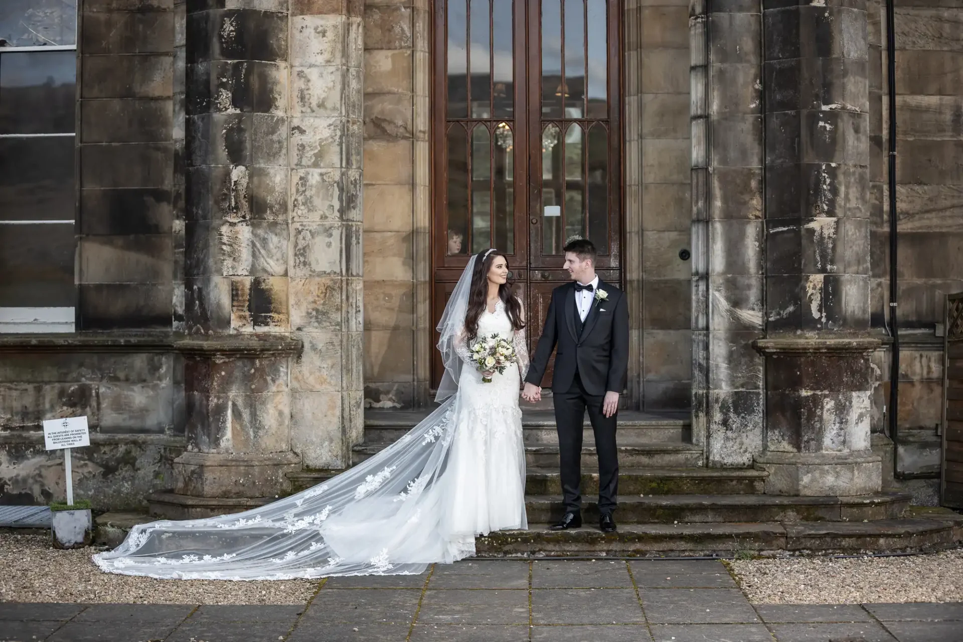
[(170, 328), (173, 0), (81, 11), (77, 327)]

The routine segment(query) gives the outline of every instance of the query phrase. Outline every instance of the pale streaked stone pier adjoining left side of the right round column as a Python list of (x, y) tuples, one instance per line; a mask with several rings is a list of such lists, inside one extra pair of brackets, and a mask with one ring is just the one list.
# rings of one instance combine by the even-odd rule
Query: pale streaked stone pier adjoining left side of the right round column
[(710, 466), (762, 449), (763, 125), (754, 0), (690, 4), (692, 439)]

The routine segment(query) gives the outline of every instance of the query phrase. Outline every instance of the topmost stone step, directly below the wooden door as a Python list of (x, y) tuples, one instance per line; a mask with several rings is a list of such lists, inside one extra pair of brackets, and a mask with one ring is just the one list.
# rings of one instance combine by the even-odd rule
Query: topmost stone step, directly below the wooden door
[[(391, 444), (427, 416), (420, 411), (369, 411), (365, 414), (365, 442)], [(595, 441), (591, 424), (585, 419), (584, 443)], [(526, 444), (558, 444), (555, 413), (538, 410), (522, 413), (522, 434)], [(655, 415), (636, 411), (619, 414), (617, 439), (619, 444), (683, 443), (690, 441), (688, 415)]]

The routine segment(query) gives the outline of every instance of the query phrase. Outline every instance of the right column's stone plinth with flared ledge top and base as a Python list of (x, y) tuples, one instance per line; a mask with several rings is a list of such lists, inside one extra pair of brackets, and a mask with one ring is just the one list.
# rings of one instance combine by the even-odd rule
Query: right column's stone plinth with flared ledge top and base
[(882, 465), (870, 440), (872, 367), (880, 341), (770, 338), (767, 433), (755, 466), (773, 495), (853, 496), (878, 492)]

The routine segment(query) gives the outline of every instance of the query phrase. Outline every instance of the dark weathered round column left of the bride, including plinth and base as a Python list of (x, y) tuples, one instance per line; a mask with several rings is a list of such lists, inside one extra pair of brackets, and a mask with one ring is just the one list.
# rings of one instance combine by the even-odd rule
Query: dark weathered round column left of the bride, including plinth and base
[(184, 329), (192, 339), (178, 348), (188, 451), (174, 462), (174, 495), (151, 500), (171, 517), (273, 498), (299, 468), (288, 389), (299, 342), (289, 334), (287, 4), (187, 8)]

